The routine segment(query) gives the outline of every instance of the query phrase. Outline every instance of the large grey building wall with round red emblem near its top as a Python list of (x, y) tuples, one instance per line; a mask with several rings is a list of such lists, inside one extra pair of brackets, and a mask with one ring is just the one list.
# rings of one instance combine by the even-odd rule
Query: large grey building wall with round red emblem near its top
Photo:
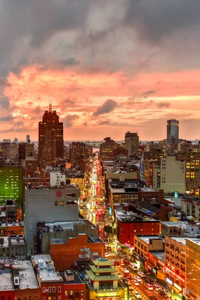
[(33, 236), (36, 233), (37, 222), (78, 220), (78, 205), (66, 204), (68, 199), (66, 195), (69, 193), (75, 194), (70, 198), (71, 200), (78, 200), (79, 189), (75, 187), (25, 189), (24, 235), (29, 253), (33, 248)]

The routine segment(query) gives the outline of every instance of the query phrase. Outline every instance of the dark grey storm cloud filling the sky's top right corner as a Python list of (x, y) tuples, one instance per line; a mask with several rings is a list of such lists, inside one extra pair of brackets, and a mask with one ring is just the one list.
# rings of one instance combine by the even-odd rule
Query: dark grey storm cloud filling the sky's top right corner
[(199, 0), (128, 0), (124, 16), (125, 25), (153, 43), (199, 22)]

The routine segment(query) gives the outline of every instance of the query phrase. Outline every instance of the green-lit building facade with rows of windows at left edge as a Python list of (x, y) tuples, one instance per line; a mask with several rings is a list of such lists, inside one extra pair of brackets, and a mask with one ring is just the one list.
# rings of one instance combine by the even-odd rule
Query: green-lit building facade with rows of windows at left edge
[(23, 198), (22, 166), (0, 166), (0, 205), (7, 199), (14, 199), (15, 204), (21, 206)]

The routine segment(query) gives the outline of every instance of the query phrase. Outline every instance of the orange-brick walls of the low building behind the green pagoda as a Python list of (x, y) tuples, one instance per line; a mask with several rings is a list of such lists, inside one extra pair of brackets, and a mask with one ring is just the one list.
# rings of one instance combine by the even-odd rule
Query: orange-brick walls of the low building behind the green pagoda
[(104, 242), (87, 242), (86, 234), (78, 234), (76, 238), (68, 238), (66, 243), (53, 244), (49, 241), (49, 254), (52, 256), (54, 266), (59, 271), (71, 268), (73, 261), (80, 259), (78, 255), (83, 255), (81, 249), (89, 248), (90, 252), (97, 252), (100, 257), (104, 257)]

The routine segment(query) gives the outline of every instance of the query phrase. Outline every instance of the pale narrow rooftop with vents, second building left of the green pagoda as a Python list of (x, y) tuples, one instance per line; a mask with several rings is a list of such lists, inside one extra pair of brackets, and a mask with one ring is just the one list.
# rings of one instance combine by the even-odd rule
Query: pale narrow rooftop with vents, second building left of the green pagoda
[(41, 281), (62, 281), (63, 278), (55, 270), (49, 254), (31, 255), (32, 263), (37, 264)]

